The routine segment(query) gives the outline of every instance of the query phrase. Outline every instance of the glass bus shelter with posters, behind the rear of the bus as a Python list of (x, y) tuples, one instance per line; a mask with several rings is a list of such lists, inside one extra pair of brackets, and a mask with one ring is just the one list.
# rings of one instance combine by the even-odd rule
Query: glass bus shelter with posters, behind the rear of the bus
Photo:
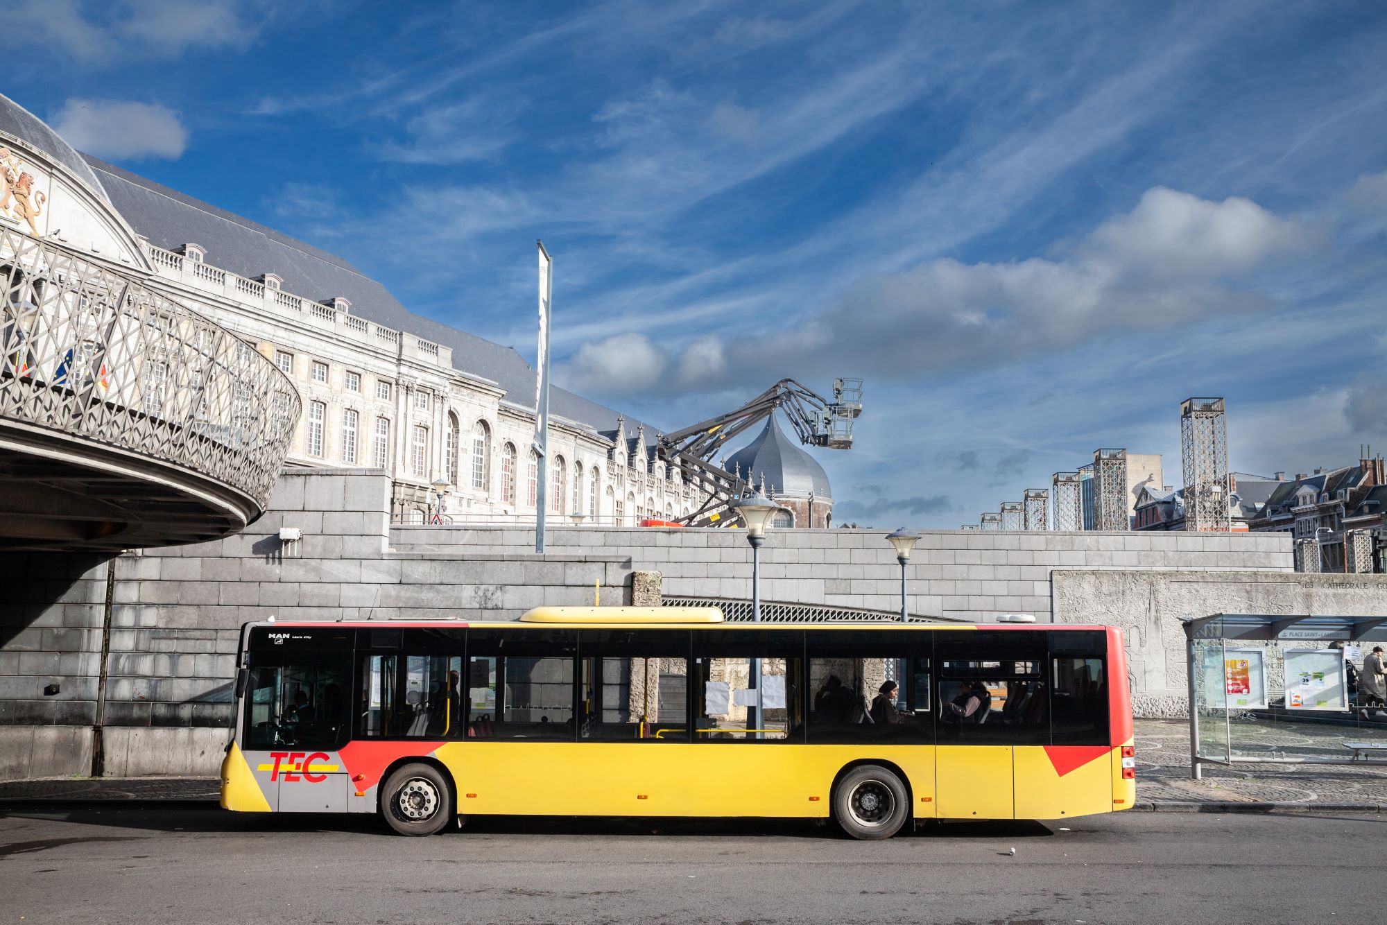
[(1387, 764), (1387, 711), (1356, 695), (1387, 616), (1215, 613), (1183, 621), (1190, 774), (1205, 764)]

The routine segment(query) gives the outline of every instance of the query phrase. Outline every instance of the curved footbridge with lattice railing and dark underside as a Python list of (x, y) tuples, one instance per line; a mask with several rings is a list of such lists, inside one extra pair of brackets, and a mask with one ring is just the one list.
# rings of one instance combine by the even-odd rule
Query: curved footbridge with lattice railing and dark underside
[(0, 227), (0, 549), (198, 542), (264, 512), (297, 391), (141, 279)]

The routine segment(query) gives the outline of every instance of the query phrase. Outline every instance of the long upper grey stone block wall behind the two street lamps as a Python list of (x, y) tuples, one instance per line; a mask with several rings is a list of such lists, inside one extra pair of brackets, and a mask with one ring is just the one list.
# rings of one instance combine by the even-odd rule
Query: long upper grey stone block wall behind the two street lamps
[[(761, 548), (761, 599), (900, 609), (900, 566), (885, 530), (773, 530)], [(397, 526), (397, 551), (513, 555), (523, 527)], [(670, 598), (750, 598), (752, 555), (741, 530), (558, 527), (553, 553), (630, 557), (663, 574)], [(910, 613), (990, 621), (999, 613), (1051, 619), (1058, 570), (1291, 571), (1286, 534), (925, 531), (906, 566)]]

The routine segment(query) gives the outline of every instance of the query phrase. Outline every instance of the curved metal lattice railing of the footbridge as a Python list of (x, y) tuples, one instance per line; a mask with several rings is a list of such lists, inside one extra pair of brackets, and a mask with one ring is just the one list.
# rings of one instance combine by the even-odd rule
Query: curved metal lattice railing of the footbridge
[(0, 229), (0, 424), (114, 447), (269, 499), (300, 415), (252, 345), (60, 244)]

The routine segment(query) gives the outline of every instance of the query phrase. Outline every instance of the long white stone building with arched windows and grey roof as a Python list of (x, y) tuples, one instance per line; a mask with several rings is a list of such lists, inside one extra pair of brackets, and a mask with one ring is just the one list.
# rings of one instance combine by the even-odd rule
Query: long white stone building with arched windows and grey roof
[[(430, 516), (440, 477), (449, 520), (534, 517), (535, 373), (513, 348), (409, 312), (311, 244), (79, 154), (4, 97), (0, 144), (15, 179), (31, 176), (31, 201), (47, 200), (0, 219), (148, 273), (151, 288), (280, 366), (304, 401), (290, 466), (384, 469), (402, 520)], [(635, 524), (696, 509), (696, 490), (653, 460), (644, 424), (560, 388), (551, 410), (551, 517)]]

